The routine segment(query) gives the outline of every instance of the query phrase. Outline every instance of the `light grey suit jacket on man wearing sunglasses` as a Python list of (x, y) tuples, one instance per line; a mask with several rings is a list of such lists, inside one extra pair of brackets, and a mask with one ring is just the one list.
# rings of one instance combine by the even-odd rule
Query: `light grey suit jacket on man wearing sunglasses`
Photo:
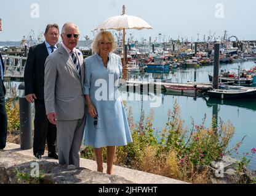
[(85, 113), (83, 57), (81, 51), (74, 50), (80, 64), (81, 78), (62, 45), (47, 57), (44, 65), (46, 114), (55, 111), (58, 120), (81, 119)]

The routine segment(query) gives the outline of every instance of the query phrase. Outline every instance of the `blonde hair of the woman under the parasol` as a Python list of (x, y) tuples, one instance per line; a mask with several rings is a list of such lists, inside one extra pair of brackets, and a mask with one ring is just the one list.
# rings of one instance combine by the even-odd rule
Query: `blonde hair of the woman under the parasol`
[(111, 42), (111, 49), (110, 52), (113, 52), (116, 50), (117, 45), (116, 42), (114, 41), (114, 37), (109, 31), (100, 31), (97, 36), (95, 37), (94, 41), (92, 42), (92, 51), (95, 53), (99, 53), (100, 49), (98, 47), (98, 43), (100, 40), (104, 40), (107, 42)]

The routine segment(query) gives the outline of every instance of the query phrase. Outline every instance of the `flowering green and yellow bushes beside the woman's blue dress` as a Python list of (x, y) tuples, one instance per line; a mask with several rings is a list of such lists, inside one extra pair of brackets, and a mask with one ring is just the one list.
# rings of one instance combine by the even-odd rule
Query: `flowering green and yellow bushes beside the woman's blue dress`
[[(204, 116), (201, 125), (192, 122), (192, 128), (187, 129), (179, 113), (175, 102), (166, 126), (156, 131), (153, 110), (148, 118), (142, 113), (140, 122), (134, 124), (130, 109), (128, 119), (133, 142), (118, 147), (115, 164), (191, 183), (209, 183), (209, 169), (204, 166), (229, 153), (226, 148), (234, 135), (234, 127), (222, 120), (217, 127), (213, 119), (212, 127), (207, 128)], [(93, 149), (87, 148), (82, 156), (94, 159)]]

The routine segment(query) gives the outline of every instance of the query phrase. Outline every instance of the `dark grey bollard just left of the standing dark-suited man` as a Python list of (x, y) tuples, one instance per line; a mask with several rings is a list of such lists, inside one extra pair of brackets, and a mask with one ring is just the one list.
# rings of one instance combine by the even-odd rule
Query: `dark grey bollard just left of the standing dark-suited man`
[(20, 148), (32, 148), (31, 103), (25, 98), (25, 84), (18, 86), (18, 101), (20, 104)]

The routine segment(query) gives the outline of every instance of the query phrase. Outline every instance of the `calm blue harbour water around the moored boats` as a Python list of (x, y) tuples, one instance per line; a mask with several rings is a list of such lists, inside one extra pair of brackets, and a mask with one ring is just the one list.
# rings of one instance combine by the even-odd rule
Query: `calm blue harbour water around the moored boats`
[[(238, 66), (240, 66), (241, 69), (250, 69), (250, 67), (254, 66), (254, 62), (247, 61), (242, 63), (221, 64), (221, 69), (237, 72), (235, 69), (238, 69)], [(209, 82), (208, 74), (212, 74), (213, 71), (213, 66), (201, 66), (197, 69), (174, 69), (169, 74), (130, 74), (130, 78), (139, 80), (172, 78), (172, 81), (179, 83), (186, 83), (187, 81)], [(15, 91), (10, 91), (10, 89), (17, 89), (19, 84), (20, 82), (17, 81), (6, 82), (8, 88), (7, 96), (15, 94)], [(127, 92), (122, 91), (122, 95), (127, 96)], [(151, 98), (152, 96), (153, 98), (156, 97), (154, 94), (151, 94)], [(207, 115), (206, 126), (209, 127), (212, 121), (212, 115), (215, 114), (224, 122), (229, 119), (236, 129), (233, 140), (230, 143), (230, 148), (246, 136), (241, 148), (239, 148), (239, 154), (233, 154), (233, 157), (238, 158), (242, 156), (242, 153), (250, 153), (250, 149), (256, 148), (256, 99), (246, 101), (221, 101), (218, 99), (209, 99), (209, 97), (194, 98), (169, 94), (161, 94), (161, 96), (158, 96), (158, 99), (161, 99), (160, 107), (151, 108), (150, 100), (144, 99), (143, 101), (127, 100), (126, 108), (132, 108), (135, 123), (139, 121), (142, 110), (144, 110), (145, 115), (148, 116), (150, 110), (153, 109), (154, 128), (161, 130), (167, 122), (168, 110), (172, 109), (175, 100), (177, 100), (180, 106), (180, 116), (185, 121), (184, 125), (187, 126), (188, 129), (191, 128), (191, 118), (194, 119), (194, 124), (201, 124), (204, 114)], [(250, 169), (256, 170), (256, 154), (252, 157)]]

